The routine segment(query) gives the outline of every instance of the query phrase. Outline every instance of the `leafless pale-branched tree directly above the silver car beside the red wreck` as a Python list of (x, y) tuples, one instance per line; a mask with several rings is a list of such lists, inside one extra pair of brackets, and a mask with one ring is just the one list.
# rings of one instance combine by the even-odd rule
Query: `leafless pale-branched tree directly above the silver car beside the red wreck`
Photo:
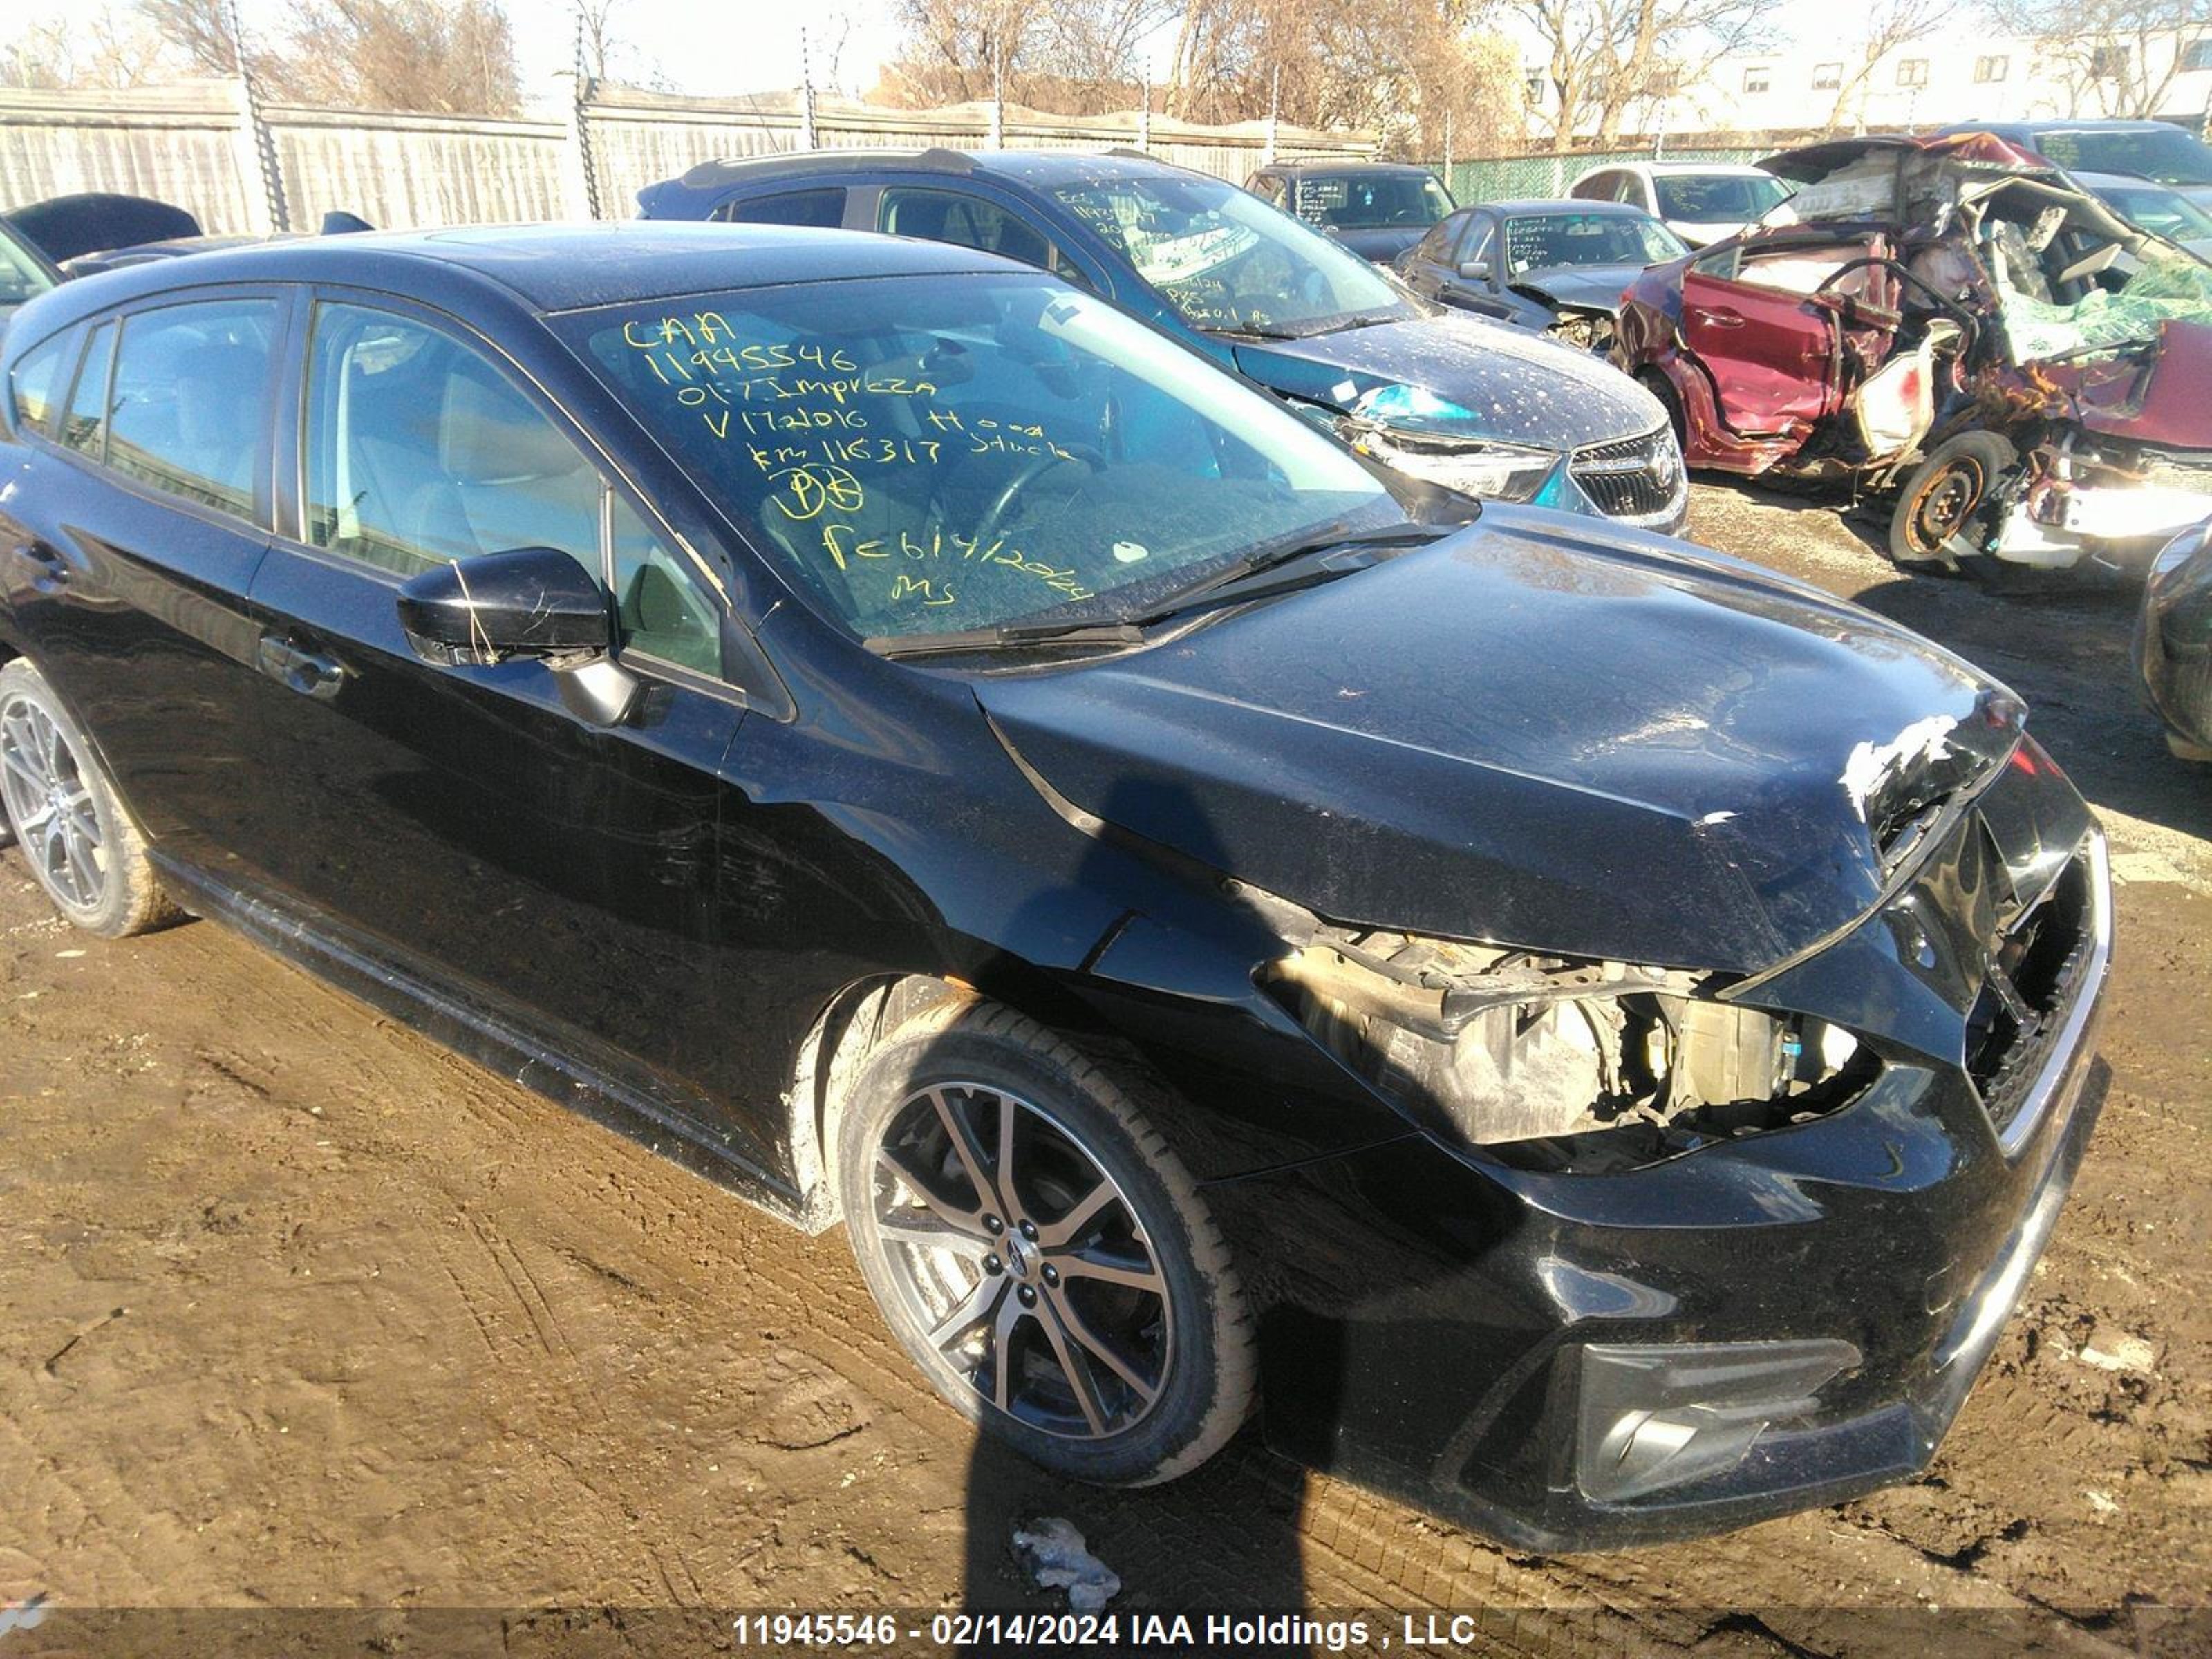
[(1551, 137), (1590, 128), (1599, 148), (1628, 111), (1703, 75), (1717, 58), (1770, 38), (1767, 0), (1500, 0), (1546, 53)]

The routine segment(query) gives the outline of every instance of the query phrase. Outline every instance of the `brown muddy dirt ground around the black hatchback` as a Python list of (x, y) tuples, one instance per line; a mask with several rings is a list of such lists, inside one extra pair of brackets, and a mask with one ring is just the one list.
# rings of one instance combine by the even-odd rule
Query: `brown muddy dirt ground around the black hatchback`
[[(1250, 1440), (1166, 1491), (1062, 1486), (918, 1385), (841, 1232), (219, 927), (75, 936), (7, 854), (0, 1604), (44, 1595), (46, 1621), (0, 1613), (0, 1659), (217, 1646), (80, 1608), (343, 1606), (334, 1650), (422, 1655), (659, 1650), (650, 1617), (549, 1608), (1046, 1608), (1006, 1559), (1031, 1513), (1084, 1528), (1121, 1608), (1471, 1608), (1480, 1646), (1531, 1655), (2212, 1648), (2212, 772), (2137, 703), (2124, 593), (1900, 580), (1874, 526), (1734, 487), (1697, 491), (1694, 533), (2013, 684), (2112, 834), (2110, 1102), (1924, 1480), (1564, 1562)], [(518, 1613), (427, 1635), (427, 1608)]]

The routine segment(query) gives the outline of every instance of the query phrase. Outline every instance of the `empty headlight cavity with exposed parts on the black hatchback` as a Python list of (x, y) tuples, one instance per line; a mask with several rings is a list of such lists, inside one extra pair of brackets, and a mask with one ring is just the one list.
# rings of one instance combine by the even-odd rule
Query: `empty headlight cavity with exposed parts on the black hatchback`
[(1840, 1026), (1628, 962), (1321, 929), (1263, 984), (1416, 1121), (1526, 1170), (1632, 1170), (1812, 1121), (1878, 1071)]

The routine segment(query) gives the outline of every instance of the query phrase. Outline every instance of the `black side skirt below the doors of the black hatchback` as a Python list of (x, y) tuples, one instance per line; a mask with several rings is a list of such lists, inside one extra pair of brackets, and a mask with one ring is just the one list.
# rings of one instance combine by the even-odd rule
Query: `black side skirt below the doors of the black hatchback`
[(730, 1150), (721, 1135), (679, 1104), (615, 1079), (606, 1068), (520, 1029), (498, 1011), (431, 984), (363, 940), (341, 938), (327, 922), (230, 887), (159, 849), (150, 849), (150, 858), (161, 883), (195, 916), (223, 922), (453, 1053), (626, 1135), (779, 1221), (821, 1230), (799, 1188)]

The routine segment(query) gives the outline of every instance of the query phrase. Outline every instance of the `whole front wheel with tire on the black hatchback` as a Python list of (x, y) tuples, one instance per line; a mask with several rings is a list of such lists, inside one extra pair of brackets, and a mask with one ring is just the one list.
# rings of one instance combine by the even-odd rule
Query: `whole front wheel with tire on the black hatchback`
[(1252, 1405), (1252, 1321), (1152, 1093), (949, 1000), (865, 1060), (836, 1135), (845, 1230), (914, 1363), (987, 1433), (1108, 1486), (1197, 1469)]

